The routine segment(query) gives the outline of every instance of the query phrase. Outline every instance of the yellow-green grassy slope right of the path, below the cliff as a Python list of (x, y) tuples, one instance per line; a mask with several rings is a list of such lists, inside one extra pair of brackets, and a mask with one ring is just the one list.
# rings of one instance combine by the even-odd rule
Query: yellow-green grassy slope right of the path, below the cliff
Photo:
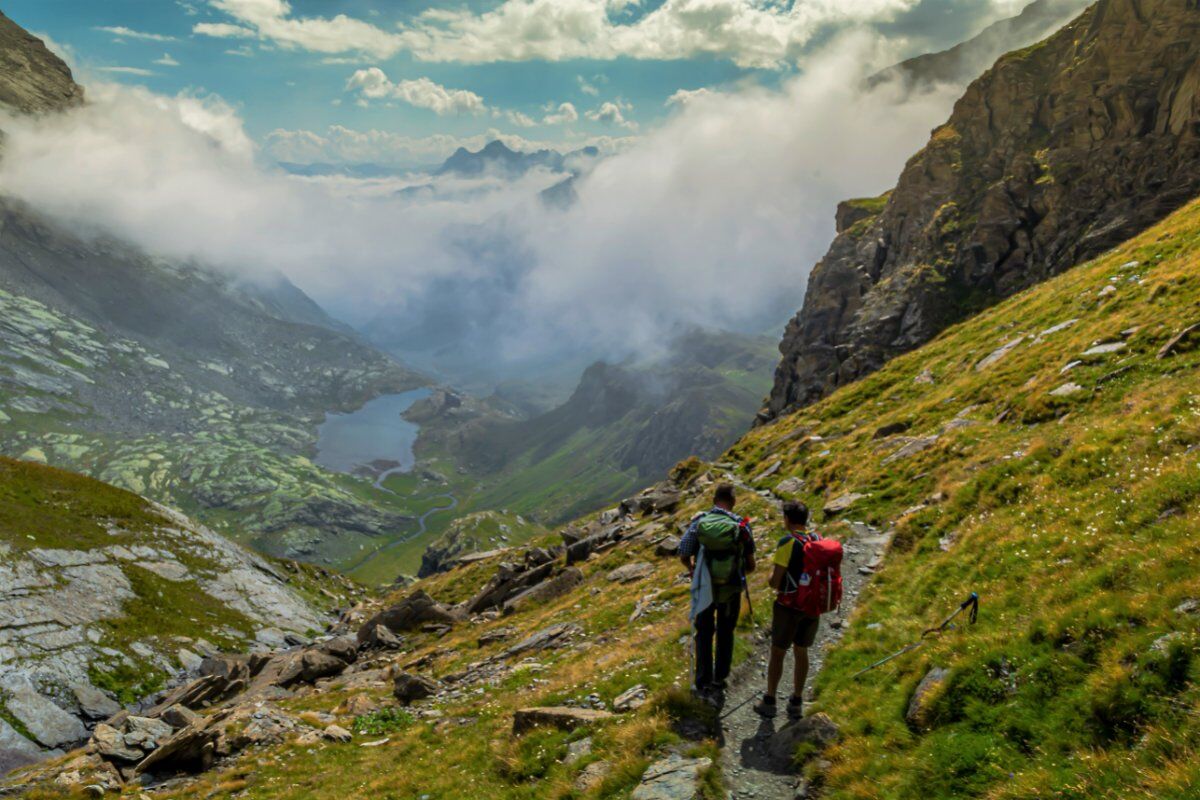
[[(746, 475), (782, 458), (772, 482), (800, 476), (817, 507), (866, 494), (851, 516), (896, 529), (820, 680), (847, 734), (828, 796), (1196, 796), (1196, 618), (1175, 609), (1200, 597), (1200, 350), (1156, 357), (1196, 321), (1200, 204), (733, 449)], [(1127, 349), (1080, 359), (1114, 341)], [(1068, 381), (1082, 390), (1050, 396)], [(964, 411), (977, 423), (883, 463), (900, 441), (876, 440), (881, 426), (926, 437)], [(805, 427), (828, 440), (796, 438)], [(948, 499), (910, 511), (935, 492)], [(970, 590), (976, 628), (851, 676)], [(920, 734), (905, 710), (934, 666), (952, 676)]]

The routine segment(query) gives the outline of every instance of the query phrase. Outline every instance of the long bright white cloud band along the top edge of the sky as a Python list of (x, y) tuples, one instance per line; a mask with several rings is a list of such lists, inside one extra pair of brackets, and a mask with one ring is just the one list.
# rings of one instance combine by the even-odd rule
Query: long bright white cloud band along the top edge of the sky
[(794, 60), (823, 29), (889, 20), (918, 1), (665, 0), (625, 22), (620, 12), (636, 5), (631, 0), (503, 0), (484, 12), (430, 8), (413, 23), (388, 30), (346, 14), (295, 16), (287, 0), (209, 0), (236, 24), (202, 23), (193, 30), (378, 59), (401, 50), (418, 60), (464, 64), (713, 56), (774, 68)]

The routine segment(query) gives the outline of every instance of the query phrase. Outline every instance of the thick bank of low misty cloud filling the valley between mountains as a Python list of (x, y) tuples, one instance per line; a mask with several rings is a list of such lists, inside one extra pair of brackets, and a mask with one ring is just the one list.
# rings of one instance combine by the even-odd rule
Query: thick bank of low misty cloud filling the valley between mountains
[[(156, 254), (282, 271), (353, 323), (437, 308), (469, 323), (457, 347), (497, 362), (620, 356), (679, 326), (763, 331), (794, 311), (835, 204), (892, 186), (960, 94), (863, 89), (895, 58), (878, 36), (844, 35), (778, 89), (691, 92), (636, 140), (504, 137), (520, 150), (594, 142), (612, 154), (574, 181), (565, 210), (539, 197), (565, 178), (545, 170), (426, 191), (416, 179), (301, 180), (271, 163), (431, 163), (491, 132), (281, 130), (264, 154), (217, 98), (103, 84), (64, 115), (0, 121), (0, 185)], [(392, 97), (400, 84), (383, 82), (356, 89)], [(628, 125), (612, 107), (607, 121)]]

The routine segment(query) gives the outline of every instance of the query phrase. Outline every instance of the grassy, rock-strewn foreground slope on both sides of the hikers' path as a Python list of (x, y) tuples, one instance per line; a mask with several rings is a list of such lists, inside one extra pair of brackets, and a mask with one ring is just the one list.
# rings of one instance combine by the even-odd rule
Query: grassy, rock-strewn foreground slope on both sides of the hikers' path
[[(1193, 203), (760, 427), (726, 453), (732, 474), (682, 465), (670, 487), (682, 495), (678, 510), (571, 525), (563, 541), (584, 539), (571, 546), (570, 566), (562, 551), (528, 548), (362, 604), (335, 628), (368, 631), (355, 664), (277, 700), (250, 696), (204, 710), (216, 726), (247, 708), (277, 722), (253, 732), (262, 748), (232, 752), (163, 793), (624, 798), (672, 753), (714, 759), (697, 775), (701, 798), (726, 796), (726, 780), (745, 789), (749, 770), (722, 775), (715, 760), (712, 712), (679, 688), (688, 588), (668, 539), (714, 481), (732, 479), (743, 486), (739, 510), (758, 519), (761, 547), (778, 531), (778, 498), (797, 495), (822, 533), (851, 547), (874, 539), (866, 523), (892, 540), (878, 565), (864, 567), (871, 583), (834, 634), (808, 705), (808, 729), (832, 722), (836, 736), (822, 750), (764, 728), (727, 742), (733, 753), (757, 758), (763, 744), (798, 741), (805, 792), (836, 800), (1195, 798), (1198, 273)], [(848, 510), (821, 511), (839, 498)], [(536, 593), (518, 599), (526, 587)], [(752, 589), (762, 624), (762, 577)], [(853, 678), (972, 590), (983, 599), (977, 625)], [(383, 608), (392, 610), (374, 616)], [(382, 620), (398, 642), (371, 643)], [(752, 631), (739, 628), (739, 658)], [(935, 667), (940, 681), (913, 703)], [(754, 664), (738, 674), (761, 680)], [(418, 684), (432, 696), (412, 699)], [(394, 686), (409, 705), (397, 704)], [(644, 704), (595, 715), (637, 686)], [(545, 706), (569, 706), (581, 721), (516, 724), (522, 709)], [(323, 733), (331, 722), (349, 741)], [(13, 781), (30, 796), (56, 798), (102, 775), (113, 781), (102, 769), (98, 757), (77, 753)], [(170, 775), (162, 765), (158, 777)]]

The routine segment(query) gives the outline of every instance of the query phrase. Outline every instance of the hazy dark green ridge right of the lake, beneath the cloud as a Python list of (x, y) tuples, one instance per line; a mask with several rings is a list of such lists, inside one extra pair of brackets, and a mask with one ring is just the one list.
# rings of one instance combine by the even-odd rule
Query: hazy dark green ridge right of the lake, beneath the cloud
[(719, 453), (752, 419), (769, 365), (766, 339), (695, 331), (661, 360), (593, 365), (565, 403), (529, 420), (426, 423), (418, 450), (482, 480), (472, 507), (563, 522), (680, 458)]

